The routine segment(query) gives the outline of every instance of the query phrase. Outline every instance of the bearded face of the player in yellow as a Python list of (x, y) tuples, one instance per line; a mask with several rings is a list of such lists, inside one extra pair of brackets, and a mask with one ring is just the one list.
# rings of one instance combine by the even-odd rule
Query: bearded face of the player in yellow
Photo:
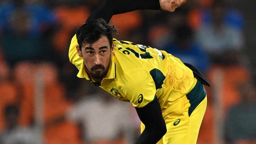
[(106, 36), (100, 37), (94, 43), (84, 44), (81, 50), (76, 46), (76, 50), (78, 55), (83, 57), (89, 75), (95, 79), (103, 79), (106, 76), (114, 52), (114, 46), (109, 45)]

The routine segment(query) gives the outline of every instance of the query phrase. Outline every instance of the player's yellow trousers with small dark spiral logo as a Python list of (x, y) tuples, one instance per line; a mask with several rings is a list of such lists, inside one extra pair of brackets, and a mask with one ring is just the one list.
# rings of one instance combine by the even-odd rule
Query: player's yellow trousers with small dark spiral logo
[[(185, 113), (183, 115), (169, 114), (165, 118), (167, 133), (161, 138), (157, 144), (196, 144), (200, 125), (206, 111), (207, 98), (195, 108), (190, 116), (188, 116), (189, 100), (184, 102)], [(180, 122), (174, 126), (175, 122)], [(141, 123), (141, 133), (145, 129)]]

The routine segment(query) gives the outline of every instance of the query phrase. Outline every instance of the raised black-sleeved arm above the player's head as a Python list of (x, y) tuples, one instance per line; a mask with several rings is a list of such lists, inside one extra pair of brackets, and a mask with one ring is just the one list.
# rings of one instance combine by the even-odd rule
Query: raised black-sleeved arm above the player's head
[(87, 21), (103, 18), (106, 22), (109, 22), (113, 15), (139, 9), (159, 10), (159, 0), (103, 0), (91, 13)]

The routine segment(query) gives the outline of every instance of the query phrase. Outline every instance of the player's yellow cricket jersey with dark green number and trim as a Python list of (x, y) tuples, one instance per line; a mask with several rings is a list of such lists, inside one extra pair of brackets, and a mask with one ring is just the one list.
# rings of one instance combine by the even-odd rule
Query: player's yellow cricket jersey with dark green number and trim
[[(99, 87), (118, 100), (144, 107), (155, 96), (161, 105), (163, 118), (170, 113), (184, 114), (184, 102), (197, 83), (192, 70), (180, 59), (165, 51), (129, 41), (113, 39), (114, 54), (106, 77)], [(69, 48), (69, 60), (79, 72), (79, 78), (91, 80), (85, 72), (83, 58), (76, 52), (76, 35)]]

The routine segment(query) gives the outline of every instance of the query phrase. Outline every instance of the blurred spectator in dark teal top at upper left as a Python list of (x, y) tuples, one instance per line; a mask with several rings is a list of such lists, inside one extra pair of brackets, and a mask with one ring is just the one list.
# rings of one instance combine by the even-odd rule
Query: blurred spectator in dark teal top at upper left
[(10, 29), (3, 32), (1, 44), (4, 57), (11, 66), (19, 61), (43, 57), (43, 41), (29, 34), (30, 15), (24, 9), (13, 12)]

